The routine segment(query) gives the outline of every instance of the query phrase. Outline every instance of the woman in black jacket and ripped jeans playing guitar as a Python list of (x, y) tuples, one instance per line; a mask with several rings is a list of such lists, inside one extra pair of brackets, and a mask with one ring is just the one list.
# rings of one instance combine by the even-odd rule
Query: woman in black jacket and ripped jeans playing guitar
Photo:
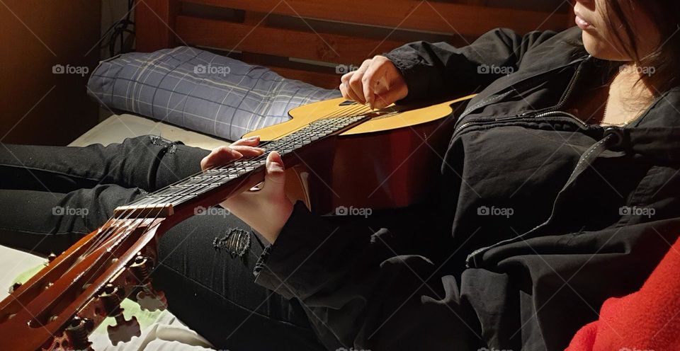
[[(680, 228), (678, 10), (673, 1), (577, 1), (579, 28), (562, 33), (492, 30), (467, 47), (416, 42), (364, 62), (340, 89), (375, 108), (480, 92), (443, 155), (441, 199), (369, 221), (317, 217), (285, 197), (272, 153), (263, 190), (222, 204), (260, 234), (249, 250), (234, 259), (213, 242), (227, 224), (229, 235), (244, 224), (194, 217), (162, 239), (155, 282), (179, 318), (231, 350), (564, 349), (606, 298), (640, 288)], [(210, 154), (149, 139), (58, 149), (90, 165), (60, 171), (59, 203), (110, 214), (136, 188), (191, 174), (187, 160), (206, 168), (259, 155), (258, 142)], [(142, 146), (152, 152), (132, 162), (115, 155)], [(50, 154), (10, 149), (33, 163)], [(29, 167), (55, 167), (44, 163)], [(84, 180), (110, 185), (74, 190)], [(15, 191), (4, 198), (26, 208), (26, 190)], [(251, 268), (266, 289), (250, 284)]]

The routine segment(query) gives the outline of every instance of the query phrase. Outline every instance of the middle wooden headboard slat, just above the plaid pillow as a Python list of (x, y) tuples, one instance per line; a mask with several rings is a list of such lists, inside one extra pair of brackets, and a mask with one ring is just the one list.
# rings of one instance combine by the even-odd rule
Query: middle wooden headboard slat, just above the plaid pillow
[(337, 64), (357, 64), (404, 42), (311, 33), (282, 28), (177, 16), (176, 33), (188, 45), (218, 47)]

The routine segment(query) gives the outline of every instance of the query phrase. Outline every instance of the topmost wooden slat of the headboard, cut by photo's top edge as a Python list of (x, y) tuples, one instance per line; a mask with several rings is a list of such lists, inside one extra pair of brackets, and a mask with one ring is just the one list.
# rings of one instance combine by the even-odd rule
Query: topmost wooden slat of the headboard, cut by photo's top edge
[(183, 0), (303, 18), (478, 36), (498, 27), (519, 33), (564, 29), (567, 14), (419, 0)]

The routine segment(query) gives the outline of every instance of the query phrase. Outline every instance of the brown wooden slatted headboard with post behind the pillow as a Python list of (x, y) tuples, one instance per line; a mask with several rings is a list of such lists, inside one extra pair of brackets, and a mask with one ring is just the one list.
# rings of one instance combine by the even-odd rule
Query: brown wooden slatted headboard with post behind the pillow
[(364, 59), (414, 40), (465, 45), (497, 27), (573, 25), (569, 6), (526, 11), (422, 0), (137, 0), (137, 50), (190, 45), (336, 88)]

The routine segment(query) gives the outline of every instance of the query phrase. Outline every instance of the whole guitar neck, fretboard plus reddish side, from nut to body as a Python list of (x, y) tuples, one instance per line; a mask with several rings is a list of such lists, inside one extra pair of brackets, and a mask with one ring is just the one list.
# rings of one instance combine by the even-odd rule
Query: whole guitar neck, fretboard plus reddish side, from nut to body
[[(224, 195), (217, 202), (225, 200), (233, 192), (248, 185), (256, 185), (263, 178), (266, 155), (277, 151), (284, 160), (285, 166), (294, 166), (293, 155), (322, 139), (340, 134), (368, 120), (368, 115), (322, 118), (315, 120), (300, 130), (291, 132), (280, 139), (261, 145), (265, 153), (262, 156), (239, 159), (225, 166), (203, 171), (198, 175), (180, 180), (166, 188), (152, 192), (130, 205), (114, 210), (114, 217), (145, 218), (170, 217), (183, 207), (196, 207), (201, 198), (215, 197), (216, 193)], [(210, 201), (208, 201), (210, 202)], [(183, 216), (188, 217), (188, 216)]]

